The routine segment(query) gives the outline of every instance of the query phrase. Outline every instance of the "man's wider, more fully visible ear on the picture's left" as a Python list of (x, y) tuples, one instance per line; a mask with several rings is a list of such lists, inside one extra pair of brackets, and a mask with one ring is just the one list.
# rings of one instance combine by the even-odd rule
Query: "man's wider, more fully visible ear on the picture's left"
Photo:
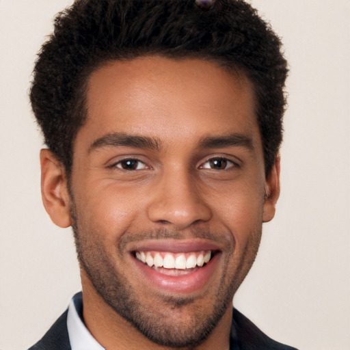
[(64, 166), (50, 150), (40, 152), (41, 194), (46, 212), (54, 224), (70, 226), (70, 196)]

